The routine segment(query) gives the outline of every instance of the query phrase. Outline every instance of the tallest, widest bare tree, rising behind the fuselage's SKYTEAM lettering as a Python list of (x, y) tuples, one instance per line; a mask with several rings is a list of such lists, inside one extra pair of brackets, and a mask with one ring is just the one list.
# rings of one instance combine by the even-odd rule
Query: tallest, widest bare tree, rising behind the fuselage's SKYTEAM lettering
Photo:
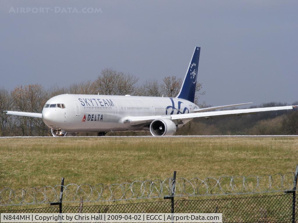
[(105, 68), (93, 83), (94, 92), (105, 95), (134, 94), (139, 78), (113, 68)]

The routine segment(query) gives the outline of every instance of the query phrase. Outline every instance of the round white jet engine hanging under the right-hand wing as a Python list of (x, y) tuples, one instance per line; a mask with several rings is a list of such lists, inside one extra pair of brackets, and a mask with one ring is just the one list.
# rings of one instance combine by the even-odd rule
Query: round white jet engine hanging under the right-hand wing
[(155, 119), (150, 124), (150, 132), (154, 136), (174, 135), (177, 127), (176, 124), (169, 119)]

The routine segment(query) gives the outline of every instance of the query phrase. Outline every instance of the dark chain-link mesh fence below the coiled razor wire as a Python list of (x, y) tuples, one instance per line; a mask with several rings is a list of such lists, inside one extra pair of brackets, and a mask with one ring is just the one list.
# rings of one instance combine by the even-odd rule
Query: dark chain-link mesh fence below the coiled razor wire
[[(178, 199), (175, 213), (222, 213), (223, 222), (292, 222), (292, 194), (232, 196), (209, 199)], [(115, 202), (114, 202), (115, 203)], [(171, 200), (126, 204), (62, 206), (62, 213), (171, 213)], [(297, 201), (296, 201), (297, 207)], [(59, 206), (1, 210), (1, 213), (59, 213)], [(296, 208), (296, 215), (298, 209)], [(297, 222), (297, 221), (295, 221)]]

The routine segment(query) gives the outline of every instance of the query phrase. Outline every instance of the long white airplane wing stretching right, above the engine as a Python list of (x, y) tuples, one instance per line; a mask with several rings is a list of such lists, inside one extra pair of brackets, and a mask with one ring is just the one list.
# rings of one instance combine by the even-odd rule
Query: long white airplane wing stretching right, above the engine
[(248, 109), (237, 109), (237, 110), (225, 110), (225, 111), (211, 111), (211, 112), (198, 112), (178, 115), (162, 115), (162, 116), (127, 116), (124, 118), (124, 123), (129, 122), (131, 126), (149, 124), (151, 121), (158, 118), (167, 118), (171, 120), (190, 120), (195, 119), (198, 121), (206, 120), (214, 117), (232, 117), (232, 116), (243, 116), (264, 111), (277, 111), (277, 110), (288, 110), (293, 109), (295, 106), (280, 106), (280, 107), (265, 107), (265, 108), (248, 108)]

